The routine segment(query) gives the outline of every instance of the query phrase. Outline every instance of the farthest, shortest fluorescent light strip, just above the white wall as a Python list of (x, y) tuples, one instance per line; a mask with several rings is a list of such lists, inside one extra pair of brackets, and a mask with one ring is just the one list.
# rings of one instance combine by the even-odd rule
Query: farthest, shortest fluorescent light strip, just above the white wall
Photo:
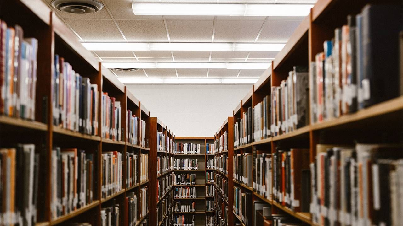
[(258, 78), (118, 78), (125, 84), (254, 84)]

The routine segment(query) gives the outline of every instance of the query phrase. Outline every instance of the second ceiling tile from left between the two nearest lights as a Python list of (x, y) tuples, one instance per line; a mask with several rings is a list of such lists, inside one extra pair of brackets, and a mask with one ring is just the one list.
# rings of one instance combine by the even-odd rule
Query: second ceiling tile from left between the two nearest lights
[(116, 21), (127, 41), (167, 42), (164, 21), (120, 20)]

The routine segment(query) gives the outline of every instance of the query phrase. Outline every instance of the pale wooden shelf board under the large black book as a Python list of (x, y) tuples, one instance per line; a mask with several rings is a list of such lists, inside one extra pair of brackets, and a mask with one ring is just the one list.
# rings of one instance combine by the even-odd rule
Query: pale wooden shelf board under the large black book
[(311, 125), (311, 127), (312, 130), (326, 129), (347, 123), (353, 123), (363, 119), (369, 119), (371, 117), (376, 117), (379, 115), (384, 115), (395, 111), (401, 111), (402, 109), (403, 109), (403, 96), (400, 96), (388, 101), (384, 101), (382, 103), (378, 103), (366, 109), (361, 109), (353, 114), (342, 115), (341, 117), (336, 119), (315, 123)]

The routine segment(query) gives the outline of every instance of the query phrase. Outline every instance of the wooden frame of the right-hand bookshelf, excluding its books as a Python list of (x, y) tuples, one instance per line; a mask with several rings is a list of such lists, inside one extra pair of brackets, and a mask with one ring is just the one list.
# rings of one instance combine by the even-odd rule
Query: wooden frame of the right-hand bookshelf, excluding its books
[[(303, 19), (285, 47), (276, 55), (270, 68), (263, 72), (258, 82), (253, 85), (253, 88), (234, 109), (234, 122), (243, 117), (242, 114), (247, 111), (248, 107), (254, 107), (263, 101), (266, 95), (272, 97), (272, 87), (280, 86), (281, 81), (287, 79), (288, 72), (293, 70), (293, 66), (311, 67), (310, 62), (315, 61), (315, 55), (323, 51), (324, 41), (334, 37), (334, 29), (346, 25), (347, 15), (360, 13), (361, 9), (369, 2), (371, 1), (318, 0), (310, 15)], [(398, 1), (386, 1), (382, 4), (387, 3), (399, 4), (398, 7), (401, 7), (401, 2)], [(308, 106), (310, 108), (312, 103), (308, 103)], [(274, 154), (278, 149), (307, 148), (309, 149), (309, 161), (312, 163), (315, 161), (318, 151), (317, 144), (354, 145), (355, 142), (401, 144), (402, 122), (403, 96), (399, 96), (360, 109), (355, 113), (348, 113), (316, 123), (309, 121), (307, 125), (293, 131), (277, 136), (268, 136), (236, 147), (233, 152), (234, 154), (243, 154), (261, 150), (266, 154)], [(371, 128), (371, 130), (366, 128)], [(274, 164), (274, 160), (272, 164)], [(255, 170), (254, 166), (253, 177), (255, 177)], [(295, 212), (282, 203), (274, 201), (272, 199), (274, 194), (272, 193), (266, 197), (260, 195), (253, 187), (235, 179), (232, 182), (233, 186), (240, 187), (242, 192), (250, 191), (252, 201), (261, 201), (270, 205), (273, 214), (285, 214), (301, 224), (320, 225), (313, 221), (310, 212)], [(233, 216), (234, 223), (239, 222), (241, 225), (245, 225), (241, 216), (235, 214), (235, 210)], [(249, 225), (253, 225), (253, 222)]]

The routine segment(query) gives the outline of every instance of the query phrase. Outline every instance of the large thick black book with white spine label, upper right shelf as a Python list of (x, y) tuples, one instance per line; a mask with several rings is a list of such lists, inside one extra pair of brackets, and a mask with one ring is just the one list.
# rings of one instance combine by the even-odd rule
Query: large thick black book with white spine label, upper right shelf
[(366, 5), (362, 10), (364, 107), (399, 96), (401, 5)]

